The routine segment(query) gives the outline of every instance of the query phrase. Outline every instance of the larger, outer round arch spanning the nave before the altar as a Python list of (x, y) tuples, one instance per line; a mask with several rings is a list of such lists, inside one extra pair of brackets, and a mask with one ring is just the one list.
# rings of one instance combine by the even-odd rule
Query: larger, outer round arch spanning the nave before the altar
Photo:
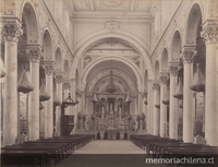
[(141, 55), (143, 56), (145, 62), (146, 62), (146, 67), (148, 69), (148, 74), (149, 74), (149, 77), (153, 76), (153, 72), (152, 72), (152, 61), (148, 57), (148, 51), (147, 50), (144, 50), (144, 48), (137, 44), (134, 39), (128, 37), (128, 36), (124, 36), (124, 35), (121, 35), (121, 34), (101, 34), (101, 35), (98, 35), (98, 36), (95, 36), (93, 37), (92, 39), (89, 39), (88, 41), (86, 41), (80, 49), (78, 51), (76, 52), (74, 59), (73, 59), (73, 63), (72, 63), (72, 77), (75, 77), (75, 69), (77, 68), (77, 64), (78, 64), (78, 60), (80, 58), (83, 56), (83, 53), (89, 49), (93, 45), (95, 45), (96, 43), (98, 43), (99, 40), (104, 39), (104, 38), (111, 38), (111, 37), (114, 37), (114, 38), (119, 38), (119, 39), (122, 39), (122, 40), (125, 40), (128, 44), (130, 44), (133, 48), (135, 48), (136, 50), (138, 50), (141, 52)]

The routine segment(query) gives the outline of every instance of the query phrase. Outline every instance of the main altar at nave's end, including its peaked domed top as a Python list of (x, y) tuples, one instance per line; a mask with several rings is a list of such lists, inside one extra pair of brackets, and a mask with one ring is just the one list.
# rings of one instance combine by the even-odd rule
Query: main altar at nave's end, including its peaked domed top
[[(97, 90), (93, 97), (93, 126), (97, 131), (107, 131), (110, 138), (110, 134), (129, 130), (130, 92), (120, 79), (113, 79), (112, 71), (108, 80), (101, 83), (105, 86)], [(118, 86), (118, 83), (122, 83), (122, 86)]]

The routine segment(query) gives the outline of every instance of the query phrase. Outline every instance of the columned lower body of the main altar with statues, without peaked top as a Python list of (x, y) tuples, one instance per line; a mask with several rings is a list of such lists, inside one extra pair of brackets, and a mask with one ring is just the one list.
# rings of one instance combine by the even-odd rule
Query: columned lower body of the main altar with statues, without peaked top
[(94, 127), (97, 131), (118, 132), (129, 129), (130, 104), (124, 103), (124, 95), (100, 97), (99, 103), (95, 106)]

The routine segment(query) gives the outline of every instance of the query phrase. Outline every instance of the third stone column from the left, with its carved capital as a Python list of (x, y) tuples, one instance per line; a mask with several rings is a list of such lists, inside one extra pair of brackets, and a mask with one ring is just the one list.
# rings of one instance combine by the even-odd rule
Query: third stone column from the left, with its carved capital
[(50, 99), (46, 102), (45, 110), (45, 138), (53, 136), (53, 61), (44, 61), (46, 73), (46, 90)]

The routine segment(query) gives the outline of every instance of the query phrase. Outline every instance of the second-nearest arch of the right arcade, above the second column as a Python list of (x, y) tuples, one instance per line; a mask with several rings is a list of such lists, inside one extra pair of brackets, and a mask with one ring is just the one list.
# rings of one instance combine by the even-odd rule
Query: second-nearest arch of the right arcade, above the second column
[(180, 52), (181, 52), (181, 35), (179, 31), (174, 32), (173, 38), (172, 38), (172, 51), (170, 55), (170, 61), (180, 61)]

